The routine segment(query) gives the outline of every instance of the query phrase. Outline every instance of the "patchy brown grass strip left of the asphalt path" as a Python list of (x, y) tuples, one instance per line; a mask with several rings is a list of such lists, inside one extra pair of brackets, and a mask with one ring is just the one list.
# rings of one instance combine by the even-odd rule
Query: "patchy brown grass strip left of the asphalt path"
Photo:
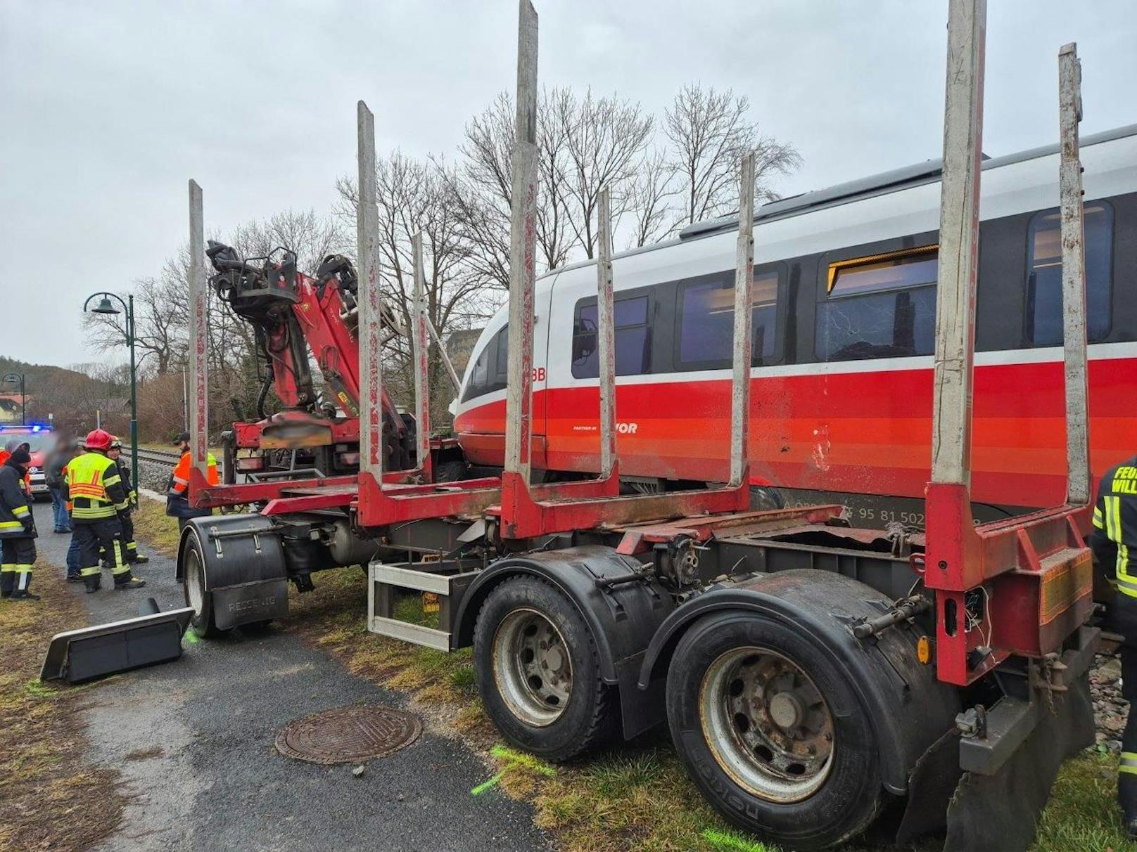
[(0, 849), (85, 850), (114, 833), (125, 796), (118, 774), (84, 762), (78, 703), (88, 687), (41, 684), (56, 633), (86, 626), (60, 570), (36, 562), (39, 603), (0, 601)]

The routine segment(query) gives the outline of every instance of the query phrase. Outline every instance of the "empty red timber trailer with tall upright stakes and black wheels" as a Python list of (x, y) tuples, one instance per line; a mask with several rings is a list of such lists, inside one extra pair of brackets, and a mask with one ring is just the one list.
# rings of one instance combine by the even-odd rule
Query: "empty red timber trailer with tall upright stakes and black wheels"
[[(179, 573), (213, 635), (287, 611), (288, 583), (368, 563), (368, 627), (473, 646), (487, 711), (512, 743), (565, 760), (666, 724), (727, 819), (789, 849), (847, 841), (881, 815), (897, 842), (1026, 849), (1069, 754), (1093, 742), (1080, 70), (1060, 53), (1068, 487), (1062, 504), (977, 524), (971, 381), (985, 42), (982, 0), (953, 0), (938, 233), (927, 531), (857, 528), (838, 506), (749, 508), (753, 154), (740, 162), (729, 458), (704, 487), (620, 493), (611, 220), (597, 269), (599, 471), (534, 484), (537, 15), (521, 0), (506, 441), (500, 477), (392, 471), (371, 112), (359, 103), (359, 471), (209, 486), (201, 191), (190, 183), (191, 501), (259, 510), (190, 521)], [(417, 336), (420, 362), (425, 332)], [(428, 396), (420, 366), (420, 406)], [(421, 440), (421, 436), (420, 436)], [(422, 457), (420, 457), (422, 458)], [(717, 476), (717, 474), (716, 474)], [(395, 618), (431, 593), (439, 624)], [(666, 803), (659, 803), (666, 807)]]

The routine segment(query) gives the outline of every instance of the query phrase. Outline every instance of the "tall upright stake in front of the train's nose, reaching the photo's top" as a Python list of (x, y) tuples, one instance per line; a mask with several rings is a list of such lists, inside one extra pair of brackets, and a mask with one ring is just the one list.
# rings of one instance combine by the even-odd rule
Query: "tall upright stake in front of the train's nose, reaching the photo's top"
[(533, 289), (537, 282), (537, 11), (521, 0), (517, 22), (517, 137), (509, 223), (509, 367), (505, 471), (529, 487), (533, 406)]

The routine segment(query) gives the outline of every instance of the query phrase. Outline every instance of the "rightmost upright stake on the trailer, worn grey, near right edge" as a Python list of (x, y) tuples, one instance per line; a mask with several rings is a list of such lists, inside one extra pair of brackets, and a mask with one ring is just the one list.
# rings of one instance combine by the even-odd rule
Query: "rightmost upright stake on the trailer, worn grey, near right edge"
[(1089, 404), (1086, 354), (1086, 250), (1078, 122), (1081, 61), (1073, 42), (1059, 51), (1059, 128), (1062, 165), (1062, 341), (1067, 402), (1067, 502), (1085, 506), (1089, 491)]

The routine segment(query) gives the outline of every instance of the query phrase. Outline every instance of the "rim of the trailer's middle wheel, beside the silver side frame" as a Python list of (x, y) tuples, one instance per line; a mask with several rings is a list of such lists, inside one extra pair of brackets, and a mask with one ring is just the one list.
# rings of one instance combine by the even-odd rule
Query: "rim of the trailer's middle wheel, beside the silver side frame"
[(493, 634), (493, 680), (509, 711), (533, 727), (559, 719), (572, 694), (564, 637), (536, 609), (509, 612)]

